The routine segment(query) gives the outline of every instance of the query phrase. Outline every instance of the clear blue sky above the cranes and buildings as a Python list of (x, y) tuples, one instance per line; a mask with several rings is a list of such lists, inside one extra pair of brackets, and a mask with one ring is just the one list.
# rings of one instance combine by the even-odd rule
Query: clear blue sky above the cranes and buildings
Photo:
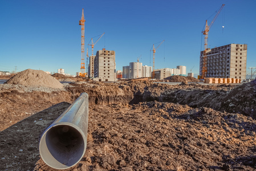
[(165, 40), (156, 51), (155, 68), (182, 65), (197, 75), (202, 28), (222, 3), (225, 7), (209, 31), (209, 47), (246, 43), (247, 68), (256, 67), (254, 0), (2, 0), (0, 71), (14, 71), (15, 66), (18, 71), (64, 68), (75, 75), (80, 71), (79, 20), (84, 9), (85, 47), (92, 37), (105, 32), (94, 54), (104, 47), (116, 51), (116, 70), (136, 62), (140, 55), (143, 65), (152, 66), (152, 45)]

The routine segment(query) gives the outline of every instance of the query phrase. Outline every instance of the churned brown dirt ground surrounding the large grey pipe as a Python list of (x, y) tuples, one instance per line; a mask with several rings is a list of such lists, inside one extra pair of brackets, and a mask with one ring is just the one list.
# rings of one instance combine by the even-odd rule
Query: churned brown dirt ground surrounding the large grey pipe
[(0, 84), (0, 170), (55, 170), (40, 158), (40, 136), (82, 92), (87, 150), (66, 170), (256, 169), (255, 86), (131, 80)]

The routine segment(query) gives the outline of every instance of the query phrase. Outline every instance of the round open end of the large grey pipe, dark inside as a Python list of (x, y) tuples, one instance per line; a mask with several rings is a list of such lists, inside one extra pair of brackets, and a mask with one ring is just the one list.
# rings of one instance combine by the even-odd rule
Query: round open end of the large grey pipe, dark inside
[(82, 134), (70, 125), (56, 125), (42, 136), (39, 150), (47, 165), (66, 169), (75, 165), (85, 152)]

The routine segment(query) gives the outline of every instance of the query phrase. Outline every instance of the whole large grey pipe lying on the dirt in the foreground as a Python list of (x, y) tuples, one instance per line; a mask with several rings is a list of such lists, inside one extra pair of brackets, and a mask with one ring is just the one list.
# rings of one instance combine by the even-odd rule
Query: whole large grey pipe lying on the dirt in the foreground
[(88, 94), (81, 95), (44, 131), (39, 152), (54, 169), (67, 169), (84, 156), (87, 145)]

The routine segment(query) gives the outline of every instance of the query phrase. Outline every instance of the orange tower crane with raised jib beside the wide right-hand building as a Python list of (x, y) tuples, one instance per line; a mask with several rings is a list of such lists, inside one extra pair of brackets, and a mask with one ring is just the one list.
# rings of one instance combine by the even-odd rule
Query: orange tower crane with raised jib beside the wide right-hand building
[(213, 21), (210, 23), (209, 26), (208, 26), (208, 23), (207, 23), (207, 20), (206, 20), (205, 30), (202, 31), (202, 33), (205, 35), (205, 38), (204, 38), (204, 51), (203, 51), (203, 63), (202, 63), (202, 76), (201, 76), (201, 79), (205, 78), (206, 72), (207, 72), (207, 56), (206, 56), (206, 51), (208, 50), (208, 32), (209, 32), (210, 28), (213, 26), (213, 23), (216, 21), (218, 15), (220, 14), (220, 12), (224, 8), (224, 6), (225, 6), (225, 4), (222, 4), (220, 10), (217, 11), (217, 14), (213, 18)]

